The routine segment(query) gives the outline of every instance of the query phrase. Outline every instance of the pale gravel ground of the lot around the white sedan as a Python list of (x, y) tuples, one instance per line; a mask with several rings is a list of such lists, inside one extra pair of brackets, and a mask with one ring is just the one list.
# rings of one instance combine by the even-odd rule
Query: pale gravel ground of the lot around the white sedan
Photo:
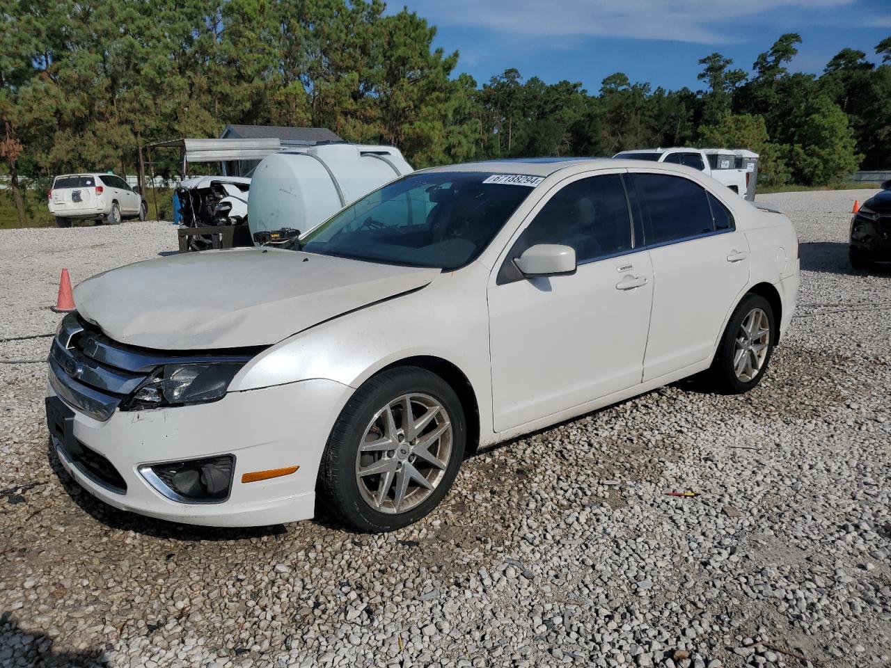
[[(846, 263), (868, 196), (761, 198), (797, 225), (803, 281), (756, 390), (682, 383), (479, 453), (394, 534), (110, 509), (48, 451), (45, 364), (0, 364), (0, 665), (891, 664), (891, 275)], [(0, 338), (53, 331), (61, 266), (175, 244), (160, 223), (0, 232)]]

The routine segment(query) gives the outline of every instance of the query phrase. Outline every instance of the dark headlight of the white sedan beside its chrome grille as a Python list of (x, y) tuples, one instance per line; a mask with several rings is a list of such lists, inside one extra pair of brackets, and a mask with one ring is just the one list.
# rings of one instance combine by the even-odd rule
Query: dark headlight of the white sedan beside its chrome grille
[(222, 399), (243, 362), (165, 364), (151, 373), (127, 401), (128, 409), (182, 406)]

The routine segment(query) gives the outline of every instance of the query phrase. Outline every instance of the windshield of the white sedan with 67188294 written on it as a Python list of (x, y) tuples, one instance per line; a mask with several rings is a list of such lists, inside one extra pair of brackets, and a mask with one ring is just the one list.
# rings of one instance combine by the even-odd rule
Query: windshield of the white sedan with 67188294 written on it
[(476, 259), (540, 176), (430, 172), (388, 183), (301, 238), (310, 253), (452, 270)]

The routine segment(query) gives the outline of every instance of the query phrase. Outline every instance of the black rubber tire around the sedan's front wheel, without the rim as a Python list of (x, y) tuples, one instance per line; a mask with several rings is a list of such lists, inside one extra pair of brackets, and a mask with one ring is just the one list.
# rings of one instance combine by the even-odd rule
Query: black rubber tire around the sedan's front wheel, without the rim
[[(364, 501), (356, 482), (356, 454), (374, 413), (385, 403), (410, 393), (430, 395), (446, 409), (452, 423), (452, 455), (436, 490), (417, 507), (392, 515), (372, 509)], [(359, 387), (340, 412), (325, 446), (318, 491), (331, 510), (356, 529), (393, 531), (425, 517), (446, 497), (461, 468), (466, 444), (467, 425), (461, 401), (444, 379), (419, 367), (382, 371)]]

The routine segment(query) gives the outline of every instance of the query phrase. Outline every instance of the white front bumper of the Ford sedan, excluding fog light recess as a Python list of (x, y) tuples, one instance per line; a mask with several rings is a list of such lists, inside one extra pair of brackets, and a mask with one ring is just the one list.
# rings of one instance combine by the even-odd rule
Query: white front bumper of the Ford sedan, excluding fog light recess
[[(335, 381), (313, 379), (231, 392), (215, 403), (115, 411), (105, 421), (74, 409), (73, 436), (107, 460), (126, 489), (91, 475), (55, 437), (53, 446), (78, 485), (118, 509), (193, 525), (293, 522), (313, 517), (319, 462), (334, 421), (352, 392)], [(52, 387), (48, 395), (54, 395)], [(146, 464), (223, 454), (232, 454), (235, 464), (232, 488), (220, 502), (174, 501), (139, 470)], [(244, 473), (290, 466), (299, 468), (289, 476), (241, 483)]]

